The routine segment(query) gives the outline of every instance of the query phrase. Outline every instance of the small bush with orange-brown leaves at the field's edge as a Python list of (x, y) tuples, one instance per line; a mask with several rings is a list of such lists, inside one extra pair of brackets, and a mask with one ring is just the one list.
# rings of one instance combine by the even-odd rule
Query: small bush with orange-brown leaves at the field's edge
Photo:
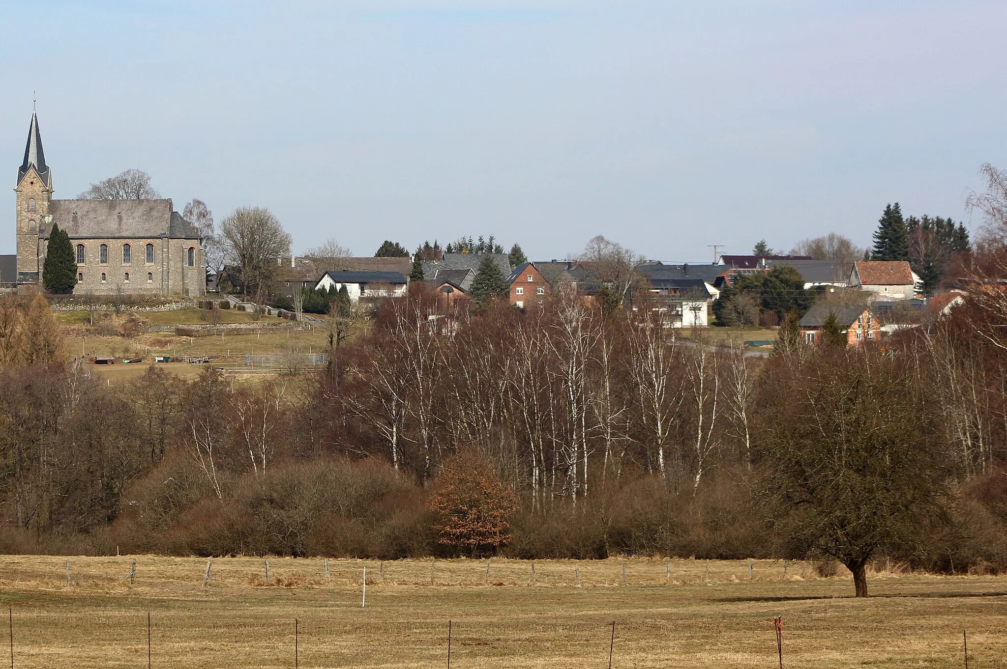
[(474, 557), (511, 540), (510, 518), (518, 511), (518, 500), (485, 463), (459, 457), (438, 478), (430, 508), (437, 515), (438, 542)]

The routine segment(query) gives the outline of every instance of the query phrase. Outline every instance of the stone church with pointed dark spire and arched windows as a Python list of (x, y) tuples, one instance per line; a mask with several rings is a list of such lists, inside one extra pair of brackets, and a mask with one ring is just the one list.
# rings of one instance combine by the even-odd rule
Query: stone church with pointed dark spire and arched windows
[(170, 199), (52, 198), (52, 170), (34, 112), (14, 192), (17, 271), (11, 279), (16, 284), (41, 283), (49, 233), (58, 225), (69, 235), (77, 258), (75, 295), (205, 294), (199, 234), (173, 210)]

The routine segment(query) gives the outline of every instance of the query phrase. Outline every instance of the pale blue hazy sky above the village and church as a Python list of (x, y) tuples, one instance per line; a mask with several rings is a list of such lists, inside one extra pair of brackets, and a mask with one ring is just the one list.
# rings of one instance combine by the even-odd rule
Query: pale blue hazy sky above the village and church
[[(138, 168), (301, 253), (596, 234), (645, 258), (869, 245), (1007, 167), (1007, 3), (0, 0), (0, 165), (37, 111), (56, 198)], [(2, 175), (2, 172), (0, 172)], [(0, 194), (14, 253), (14, 193)]]

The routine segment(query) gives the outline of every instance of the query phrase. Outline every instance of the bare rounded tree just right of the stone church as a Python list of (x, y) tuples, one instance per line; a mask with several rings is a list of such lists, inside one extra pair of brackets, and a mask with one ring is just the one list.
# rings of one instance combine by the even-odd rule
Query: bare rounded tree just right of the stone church
[(221, 222), (221, 237), (228, 260), (237, 266), (245, 294), (251, 289), (261, 302), (263, 290), (276, 273), (277, 259), (290, 254), (290, 235), (269, 209), (239, 207)]

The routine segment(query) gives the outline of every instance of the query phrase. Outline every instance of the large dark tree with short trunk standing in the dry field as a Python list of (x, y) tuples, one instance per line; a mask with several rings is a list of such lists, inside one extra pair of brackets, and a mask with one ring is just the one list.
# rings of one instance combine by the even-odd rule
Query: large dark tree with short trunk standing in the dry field
[(770, 358), (754, 440), (762, 490), (784, 555), (826, 554), (867, 597), (878, 550), (910, 553), (946, 517), (952, 462), (932, 393), (873, 347)]

